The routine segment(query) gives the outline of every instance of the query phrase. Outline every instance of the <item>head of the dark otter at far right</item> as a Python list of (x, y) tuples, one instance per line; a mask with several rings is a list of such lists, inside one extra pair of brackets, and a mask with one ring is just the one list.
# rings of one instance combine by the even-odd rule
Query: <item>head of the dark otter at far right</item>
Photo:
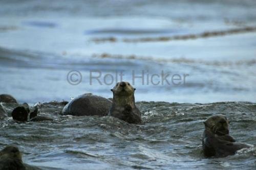
[(207, 118), (204, 122), (205, 130), (211, 131), (219, 136), (229, 134), (227, 117), (222, 114), (216, 114)]

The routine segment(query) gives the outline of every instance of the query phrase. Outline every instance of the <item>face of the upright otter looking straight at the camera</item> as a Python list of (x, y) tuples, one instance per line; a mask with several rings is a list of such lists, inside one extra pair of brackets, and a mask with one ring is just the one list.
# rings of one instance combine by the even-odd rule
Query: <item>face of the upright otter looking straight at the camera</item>
[(132, 95), (134, 94), (135, 88), (129, 82), (119, 82), (111, 91), (115, 95)]

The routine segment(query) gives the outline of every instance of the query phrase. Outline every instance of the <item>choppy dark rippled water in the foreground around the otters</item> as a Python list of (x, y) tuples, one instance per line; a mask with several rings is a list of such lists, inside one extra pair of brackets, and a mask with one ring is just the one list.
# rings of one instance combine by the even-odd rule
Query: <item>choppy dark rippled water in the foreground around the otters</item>
[(57, 115), (52, 122), (26, 124), (8, 118), (0, 122), (0, 146), (17, 145), (29, 164), (63, 169), (84, 164), (93, 169), (236, 169), (255, 162), (255, 148), (205, 159), (201, 144), (203, 121), (217, 113), (231, 120), (230, 134), (237, 141), (255, 144), (255, 104), (138, 102), (137, 106), (142, 125), (111, 116)]

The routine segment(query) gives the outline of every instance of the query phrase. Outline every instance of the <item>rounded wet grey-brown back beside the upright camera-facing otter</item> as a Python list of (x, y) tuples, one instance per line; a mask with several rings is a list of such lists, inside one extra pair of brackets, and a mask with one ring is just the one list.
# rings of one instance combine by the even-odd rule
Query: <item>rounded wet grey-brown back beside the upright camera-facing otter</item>
[(112, 102), (91, 93), (82, 94), (70, 101), (62, 110), (63, 115), (74, 116), (106, 116), (109, 113)]

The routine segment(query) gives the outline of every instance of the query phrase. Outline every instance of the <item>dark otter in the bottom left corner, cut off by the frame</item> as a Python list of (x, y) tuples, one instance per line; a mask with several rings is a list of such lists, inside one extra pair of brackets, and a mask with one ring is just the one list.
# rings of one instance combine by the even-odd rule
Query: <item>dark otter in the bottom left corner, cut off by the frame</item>
[(0, 151), (0, 170), (25, 170), (26, 167), (22, 161), (17, 147), (8, 146)]

